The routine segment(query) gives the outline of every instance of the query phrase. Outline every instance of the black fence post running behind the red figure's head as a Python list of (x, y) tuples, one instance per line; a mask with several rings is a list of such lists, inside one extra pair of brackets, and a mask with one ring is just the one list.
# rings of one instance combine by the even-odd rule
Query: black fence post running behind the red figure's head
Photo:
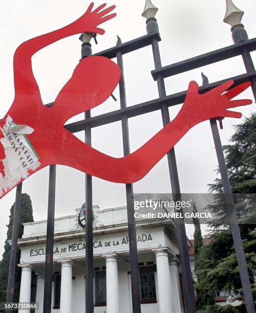
[[(89, 35), (88, 33), (84, 33)], [(90, 36), (86, 37), (90, 40)], [(82, 59), (92, 53), (91, 44), (87, 41), (82, 44)], [(90, 118), (90, 110), (86, 111), (84, 118)], [(91, 146), (91, 128), (85, 128), (85, 142)], [(85, 312), (94, 312), (94, 245), (93, 245), (93, 211), (92, 211), (92, 177), (85, 174)]]

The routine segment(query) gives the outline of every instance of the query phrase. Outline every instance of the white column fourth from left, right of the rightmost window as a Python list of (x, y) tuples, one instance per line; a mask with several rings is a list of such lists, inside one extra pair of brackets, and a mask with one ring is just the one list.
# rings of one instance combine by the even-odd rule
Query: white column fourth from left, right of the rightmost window
[(154, 250), (154, 252), (156, 256), (159, 313), (172, 313), (172, 288), (168, 252), (166, 249)]

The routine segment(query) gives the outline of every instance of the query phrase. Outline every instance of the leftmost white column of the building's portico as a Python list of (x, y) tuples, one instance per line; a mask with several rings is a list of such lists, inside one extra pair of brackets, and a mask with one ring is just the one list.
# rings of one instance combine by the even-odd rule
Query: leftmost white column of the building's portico
[[(32, 267), (30, 264), (19, 264), (21, 267), (21, 281), (19, 302), (30, 302), (31, 297), (31, 273)], [(30, 310), (18, 310), (19, 313), (30, 313)]]

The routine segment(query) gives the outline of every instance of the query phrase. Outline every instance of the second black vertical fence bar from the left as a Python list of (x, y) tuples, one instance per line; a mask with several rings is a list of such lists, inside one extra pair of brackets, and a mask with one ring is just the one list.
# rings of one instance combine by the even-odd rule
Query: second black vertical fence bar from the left
[(45, 274), (43, 313), (52, 311), (52, 281), (53, 281), (53, 245), (54, 245), (54, 214), (55, 214), (56, 165), (50, 165), (48, 216), (45, 249)]

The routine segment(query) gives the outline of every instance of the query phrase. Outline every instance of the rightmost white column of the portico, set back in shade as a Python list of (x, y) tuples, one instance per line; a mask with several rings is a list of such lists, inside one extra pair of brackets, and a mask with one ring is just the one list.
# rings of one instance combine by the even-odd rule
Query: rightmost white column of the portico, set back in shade
[(172, 299), (175, 313), (183, 313), (178, 264), (179, 260), (177, 258), (173, 258), (170, 262)]

